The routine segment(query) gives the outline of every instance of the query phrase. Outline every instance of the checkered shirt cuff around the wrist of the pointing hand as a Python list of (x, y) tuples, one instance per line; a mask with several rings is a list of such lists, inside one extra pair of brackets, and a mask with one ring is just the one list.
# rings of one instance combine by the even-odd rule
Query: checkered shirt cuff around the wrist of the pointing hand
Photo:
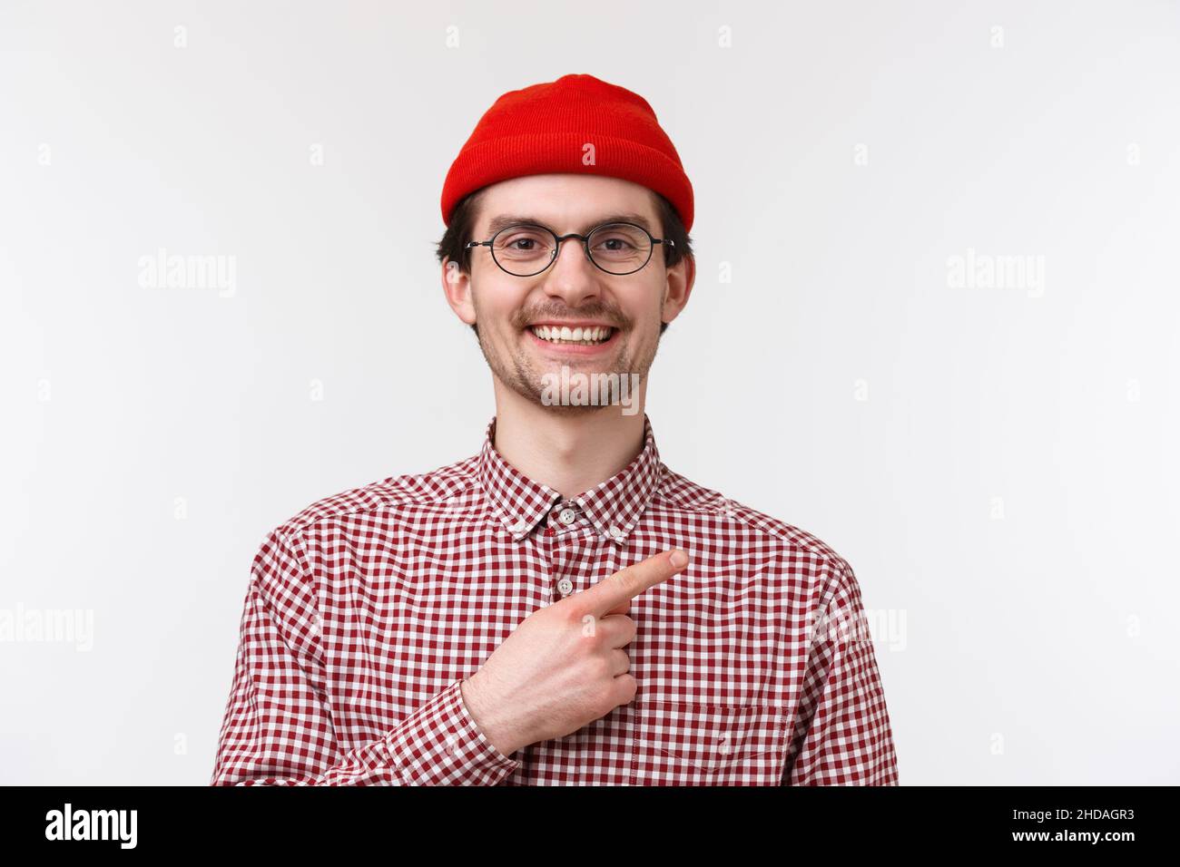
[(497, 786), (519, 766), (479, 730), (454, 681), (411, 714), (387, 738), (406, 786)]

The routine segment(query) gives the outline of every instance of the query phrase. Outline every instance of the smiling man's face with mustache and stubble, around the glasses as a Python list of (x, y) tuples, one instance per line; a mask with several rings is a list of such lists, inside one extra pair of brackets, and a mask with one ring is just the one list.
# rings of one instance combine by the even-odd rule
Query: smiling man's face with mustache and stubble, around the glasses
[[(662, 237), (654, 193), (629, 180), (581, 175), (535, 175), (484, 190), (476, 230), (465, 241), (486, 241), (496, 223), (523, 218), (558, 235), (579, 232), (634, 215), (627, 222)], [(527, 242), (523, 244), (529, 247)], [(517, 277), (496, 264), (487, 247), (474, 248), (470, 278), (453, 271), (447, 297), (468, 324), (492, 373), (517, 394), (543, 403), (545, 374), (638, 374), (645, 382), (660, 342), (660, 324), (670, 322), (687, 301), (690, 260), (664, 267), (657, 244), (641, 270), (612, 275), (595, 267), (575, 238), (562, 242), (557, 260), (531, 277)], [(686, 270), (688, 271), (686, 280)], [(464, 282), (466, 281), (466, 283)], [(447, 285), (444, 268), (444, 285)], [(550, 329), (548, 339), (545, 329)], [(583, 342), (553, 341), (556, 329), (583, 329)], [(586, 344), (588, 329), (609, 329), (605, 340)], [(562, 412), (601, 407), (551, 407)]]

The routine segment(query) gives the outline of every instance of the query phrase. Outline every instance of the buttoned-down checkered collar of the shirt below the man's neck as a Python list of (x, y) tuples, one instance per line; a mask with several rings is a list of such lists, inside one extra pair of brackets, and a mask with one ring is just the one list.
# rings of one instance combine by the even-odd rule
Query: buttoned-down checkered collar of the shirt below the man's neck
[[(519, 541), (562, 500), (562, 494), (533, 481), (504, 460), (496, 451), (494, 439), (493, 416), (479, 452), (477, 474), (497, 517), (513, 541)], [(651, 503), (660, 486), (661, 471), (651, 420), (644, 413), (643, 451), (622, 471), (571, 499), (585, 512), (598, 533), (615, 543), (623, 543)]]

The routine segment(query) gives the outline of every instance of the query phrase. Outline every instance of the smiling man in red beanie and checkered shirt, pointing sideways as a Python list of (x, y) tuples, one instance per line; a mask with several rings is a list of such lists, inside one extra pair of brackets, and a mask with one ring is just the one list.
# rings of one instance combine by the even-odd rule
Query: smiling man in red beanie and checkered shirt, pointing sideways
[(695, 263), (648, 103), (506, 93), (441, 204), (496, 415), (478, 454), (269, 534), (212, 783), (897, 784), (852, 569), (656, 451)]

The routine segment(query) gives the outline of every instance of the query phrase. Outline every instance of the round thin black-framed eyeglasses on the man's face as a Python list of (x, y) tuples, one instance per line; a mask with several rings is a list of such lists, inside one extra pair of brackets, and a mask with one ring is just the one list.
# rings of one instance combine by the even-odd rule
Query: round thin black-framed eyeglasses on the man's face
[(543, 225), (518, 223), (500, 229), (490, 241), (471, 241), (465, 249), (487, 247), (502, 270), (514, 277), (532, 277), (553, 264), (566, 238), (581, 241), (586, 258), (597, 269), (620, 276), (643, 268), (651, 260), (656, 244), (676, 245), (668, 238), (653, 237), (634, 223), (607, 223), (589, 235), (557, 235)]

